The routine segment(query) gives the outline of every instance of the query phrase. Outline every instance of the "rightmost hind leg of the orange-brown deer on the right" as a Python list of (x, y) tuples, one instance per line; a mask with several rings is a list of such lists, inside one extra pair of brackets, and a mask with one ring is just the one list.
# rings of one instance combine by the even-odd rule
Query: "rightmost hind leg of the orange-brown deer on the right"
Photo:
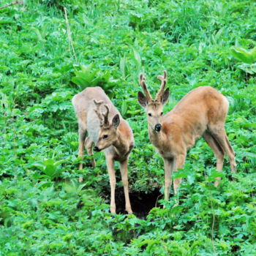
[(230, 160), (230, 168), (232, 173), (236, 173), (236, 159), (235, 159), (235, 151), (233, 150), (230, 142), (227, 138), (227, 134), (225, 132), (224, 126), (211, 125), (209, 127), (211, 135), (215, 140), (219, 143), (219, 146), (223, 149), (223, 151), (227, 154), (228, 159)]

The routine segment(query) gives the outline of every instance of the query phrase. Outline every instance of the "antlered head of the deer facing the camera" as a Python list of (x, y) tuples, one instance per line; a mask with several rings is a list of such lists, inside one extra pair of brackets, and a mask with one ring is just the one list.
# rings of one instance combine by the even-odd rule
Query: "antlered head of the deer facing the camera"
[(162, 128), (162, 109), (168, 101), (170, 91), (169, 88), (165, 89), (165, 86), (167, 84), (167, 72), (164, 71), (164, 74), (159, 75), (157, 78), (161, 81), (161, 86), (159, 91), (157, 92), (156, 99), (153, 99), (148, 91), (148, 87), (146, 86), (146, 78), (143, 76), (142, 73), (140, 73), (139, 83), (145, 95), (141, 91), (139, 91), (138, 102), (146, 110), (148, 124), (151, 129), (153, 129), (155, 132), (160, 132)]

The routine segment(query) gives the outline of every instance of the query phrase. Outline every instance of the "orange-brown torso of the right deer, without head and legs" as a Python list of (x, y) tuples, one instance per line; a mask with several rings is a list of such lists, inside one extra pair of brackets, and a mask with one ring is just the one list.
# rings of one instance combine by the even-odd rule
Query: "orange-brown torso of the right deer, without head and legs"
[(228, 101), (211, 86), (200, 86), (185, 95), (178, 104), (162, 117), (162, 133), (173, 145), (179, 138), (187, 149), (203, 135), (211, 124), (224, 124)]

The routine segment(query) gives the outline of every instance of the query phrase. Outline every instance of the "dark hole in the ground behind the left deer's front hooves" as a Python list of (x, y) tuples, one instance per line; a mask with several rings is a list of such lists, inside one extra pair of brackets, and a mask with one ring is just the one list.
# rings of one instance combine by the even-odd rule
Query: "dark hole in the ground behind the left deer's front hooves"
[[(110, 191), (103, 191), (103, 197), (110, 203)], [(124, 188), (116, 187), (116, 213), (127, 214), (125, 211)], [(151, 208), (159, 207), (159, 200), (162, 199), (162, 193), (158, 188), (151, 192), (132, 192), (129, 191), (129, 200), (131, 201), (132, 211), (138, 218), (146, 218)]]

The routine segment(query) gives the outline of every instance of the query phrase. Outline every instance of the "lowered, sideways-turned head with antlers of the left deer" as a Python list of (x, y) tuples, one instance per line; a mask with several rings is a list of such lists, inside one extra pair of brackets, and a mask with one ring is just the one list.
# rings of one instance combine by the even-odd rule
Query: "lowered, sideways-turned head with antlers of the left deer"
[[(99, 118), (99, 137), (96, 145), (94, 146), (94, 150), (101, 151), (102, 149), (111, 146), (118, 139), (117, 128), (120, 124), (120, 117), (116, 114), (110, 123), (108, 119), (110, 106), (103, 104), (102, 101), (97, 102), (95, 99), (94, 104), (96, 105), (96, 109), (94, 109), (94, 111)], [(105, 112), (100, 110), (102, 105), (105, 107)]]

